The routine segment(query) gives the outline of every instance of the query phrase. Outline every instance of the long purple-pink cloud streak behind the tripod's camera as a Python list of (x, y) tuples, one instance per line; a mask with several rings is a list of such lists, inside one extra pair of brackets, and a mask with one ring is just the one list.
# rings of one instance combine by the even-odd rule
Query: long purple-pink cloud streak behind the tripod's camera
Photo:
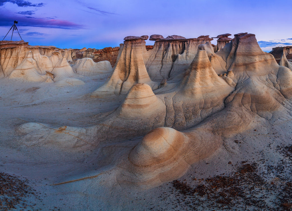
[(0, 26), (11, 26), (13, 20), (18, 21), (19, 26), (43, 27), (43, 28), (60, 28), (60, 29), (81, 29), (83, 26), (67, 21), (55, 20), (51, 18), (34, 18), (30, 16), (10, 16), (0, 13)]

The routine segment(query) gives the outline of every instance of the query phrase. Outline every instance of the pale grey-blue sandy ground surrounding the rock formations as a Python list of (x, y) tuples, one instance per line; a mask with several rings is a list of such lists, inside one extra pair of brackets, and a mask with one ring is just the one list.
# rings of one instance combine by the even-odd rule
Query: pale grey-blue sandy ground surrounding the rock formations
[[(291, 210), (292, 151), (285, 148), (292, 143), (291, 119), (258, 117), (257, 128), (225, 140), (177, 181), (150, 189), (115, 179), (117, 162), (141, 137), (86, 151), (21, 144), (16, 128), (23, 123), (87, 127), (100, 113), (116, 109), (122, 99), (88, 95), (105, 80), (85, 77), (83, 86), (58, 87), (0, 79), (0, 172), (25, 181), (34, 193), (24, 194), (10, 210)], [(234, 187), (230, 178), (238, 181)], [(236, 193), (230, 194), (232, 187)]]

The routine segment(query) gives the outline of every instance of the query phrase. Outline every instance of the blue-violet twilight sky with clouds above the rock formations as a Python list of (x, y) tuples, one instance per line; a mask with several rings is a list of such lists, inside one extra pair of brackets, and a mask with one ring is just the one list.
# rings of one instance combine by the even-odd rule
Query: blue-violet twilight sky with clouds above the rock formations
[[(119, 46), (130, 35), (196, 38), (248, 32), (269, 52), (292, 45), (291, 7), (291, 0), (0, 0), (0, 41), (17, 20), (30, 45), (101, 49)], [(17, 32), (12, 39), (20, 40)]]

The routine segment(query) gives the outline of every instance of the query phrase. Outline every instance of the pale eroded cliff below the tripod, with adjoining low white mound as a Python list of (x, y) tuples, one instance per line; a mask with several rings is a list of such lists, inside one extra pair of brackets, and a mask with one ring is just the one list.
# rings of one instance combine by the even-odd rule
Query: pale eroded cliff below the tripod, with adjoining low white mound
[(55, 85), (64, 86), (84, 84), (79, 74), (88, 76), (94, 72), (112, 71), (112, 67), (105, 62), (91, 62), (89, 66), (93, 68), (88, 68), (88, 62), (77, 62), (74, 69), (79, 74), (76, 74), (68, 63), (72, 62), (72, 51), (55, 46), (30, 46), (24, 41), (3, 41), (0, 48), (0, 77), (40, 83), (55, 82)]

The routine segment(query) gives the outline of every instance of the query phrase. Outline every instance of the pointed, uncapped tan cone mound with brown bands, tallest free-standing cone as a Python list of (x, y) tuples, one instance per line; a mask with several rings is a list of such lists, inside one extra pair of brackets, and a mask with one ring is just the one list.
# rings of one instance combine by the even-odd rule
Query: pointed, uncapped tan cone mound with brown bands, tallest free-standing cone
[(224, 108), (225, 98), (234, 90), (214, 71), (205, 50), (199, 50), (183, 75), (172, 98), (174, 112), (168, 127), (186, 129)]

